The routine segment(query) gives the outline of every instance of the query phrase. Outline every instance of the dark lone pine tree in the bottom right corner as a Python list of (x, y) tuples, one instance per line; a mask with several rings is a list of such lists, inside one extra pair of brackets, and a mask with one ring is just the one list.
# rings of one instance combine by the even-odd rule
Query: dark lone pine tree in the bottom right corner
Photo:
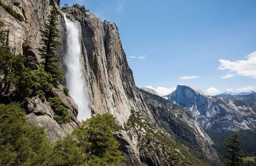
[(226, 164), (228, 166), (242, 165), (241, 157), (244, 156), (244, 151), (238, 147), (240, 143), (237, 140), (239, 138), (242, 138), (242, 133), (236, 133), (226, 139), (227, 155), (223, 156), (223, 158), (227, 159)]

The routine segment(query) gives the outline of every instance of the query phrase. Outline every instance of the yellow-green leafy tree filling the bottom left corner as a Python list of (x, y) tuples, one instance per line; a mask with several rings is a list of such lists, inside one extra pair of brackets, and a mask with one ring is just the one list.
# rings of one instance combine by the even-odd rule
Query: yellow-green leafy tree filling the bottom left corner
[(52, 151), (44, 128), (26, 125), (18, 104), (0, 105), (0, 165), (40, 165)]

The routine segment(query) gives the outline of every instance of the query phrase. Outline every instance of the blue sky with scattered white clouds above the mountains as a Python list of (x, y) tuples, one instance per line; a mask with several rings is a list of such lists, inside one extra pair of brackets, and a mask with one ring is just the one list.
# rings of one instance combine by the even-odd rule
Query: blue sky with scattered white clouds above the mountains
[[(255, 0), (61, 0), (116, 23), (136, 86), (256, 91)], [(251, 54), (250, 56), (248, 56)]]

